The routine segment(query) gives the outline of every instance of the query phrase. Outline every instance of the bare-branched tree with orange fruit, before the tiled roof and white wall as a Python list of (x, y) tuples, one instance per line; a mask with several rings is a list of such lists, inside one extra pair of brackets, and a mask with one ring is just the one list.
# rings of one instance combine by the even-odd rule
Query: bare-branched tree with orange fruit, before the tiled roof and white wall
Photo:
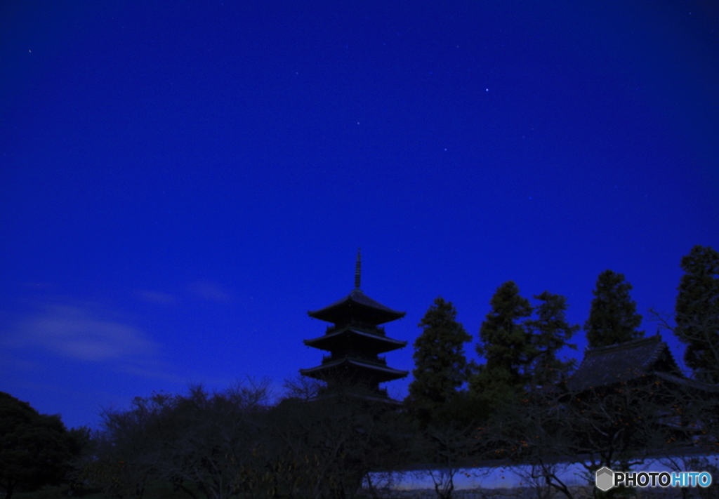
[[(603, 386), (568, 390), (560, 383), (524, 393), (480, 427), (482, 456), (530, 465), (533, 479), (573, 499), (557, 475), (557, 463), (584, 467), (591, 484), (600, 467), (631, 470), (657, 455), (676, 456), (703, 438), (698, 418), (716, 407), (715, 387), (707, 391), (661, 375), (623, 380), (628, 374), (618, 372)], [(626, 492), (615, 489), (597, 497)]]

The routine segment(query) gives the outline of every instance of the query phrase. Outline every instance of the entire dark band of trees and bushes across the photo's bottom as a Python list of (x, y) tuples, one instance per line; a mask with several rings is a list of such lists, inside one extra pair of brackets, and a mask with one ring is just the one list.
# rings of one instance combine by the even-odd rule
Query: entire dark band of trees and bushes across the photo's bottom
[[(654, 315), (686, 344), (692, 379), (617, 373), (577, 388), (576, 365), (559, 358), (580, 330), (567, 322), (566, 299), (545, 291), (529, 301), (508, 282), (480, 328), (482, 365), (467, 361), (472, 337), (452, 303), (434, 301), (401, 404), (326, 393), (303, 377), (270, 402), (269, 384), (248, 380), (216, 393), (195, 386), (135, 398), (127, 411), (102, 413), (101, 431), (90, 432), (66, 431), (57, 416), (0, 394), (0, 490), (11, 499), (64, 480), (76, 493), (140, 499), (159, 480), (193, 499), (346, 499), (363, 481), (376, 495), (370, 472), (426, 467), (439, 470), (428, 474), (449, 499), (457, 470), (491, 460), (524, 470), (539, 499), (550, 490), (573, 499), (559, 478), (565, 464), (582, 464), (592, 479), (602, 466), (628, 470), (650, 456), (673, 456), (677, 470), (710, 469), (690, 461), (698, 454), (676, 456), (719, 450), (719, 253), (697, 246), (681, 265), (673, 321)], [(597, 278), (583, 325), (590, 347), (644, 336), (630, 291), (621, 274)]]

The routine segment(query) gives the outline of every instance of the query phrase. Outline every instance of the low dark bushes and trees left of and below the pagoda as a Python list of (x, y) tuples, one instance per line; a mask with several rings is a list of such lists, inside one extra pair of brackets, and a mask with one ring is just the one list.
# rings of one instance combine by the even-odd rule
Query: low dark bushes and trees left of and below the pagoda
[[(372, 393), (318, 399), (321, 384), (301, 378), (270, 403), (268, 386), (248, 380), (214, 393), (193, 386), (134, 398), (126, 411), (104, 411), (95, 432), (68, 432), (58, 416), (0, 394), (5, 499), (60, 482), (73, 495), (139, 499), (157, 481), (193, 499), (342, 499), (370, 470), (421, 452), (411, 420)], [(18, 411), (32, 417), (6, 418)]]

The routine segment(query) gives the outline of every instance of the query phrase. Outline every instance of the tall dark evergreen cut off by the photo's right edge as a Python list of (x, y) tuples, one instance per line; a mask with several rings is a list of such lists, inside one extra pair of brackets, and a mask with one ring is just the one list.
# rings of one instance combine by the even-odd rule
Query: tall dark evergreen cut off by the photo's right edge
[(684, 362), (697, 378), (719, 383), (719, 252), (695, 246), (682, 258), (682, 270), (674, 333), (687, 344)]

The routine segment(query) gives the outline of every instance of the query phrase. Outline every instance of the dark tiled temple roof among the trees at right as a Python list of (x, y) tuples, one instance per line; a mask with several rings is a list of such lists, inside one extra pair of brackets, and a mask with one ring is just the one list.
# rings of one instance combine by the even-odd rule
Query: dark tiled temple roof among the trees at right
[(581, 392), (659, 372), (681, 376), (669, 347), (656, 335), (587, 349), (577, 372), (567, 380), (567, 388)]

